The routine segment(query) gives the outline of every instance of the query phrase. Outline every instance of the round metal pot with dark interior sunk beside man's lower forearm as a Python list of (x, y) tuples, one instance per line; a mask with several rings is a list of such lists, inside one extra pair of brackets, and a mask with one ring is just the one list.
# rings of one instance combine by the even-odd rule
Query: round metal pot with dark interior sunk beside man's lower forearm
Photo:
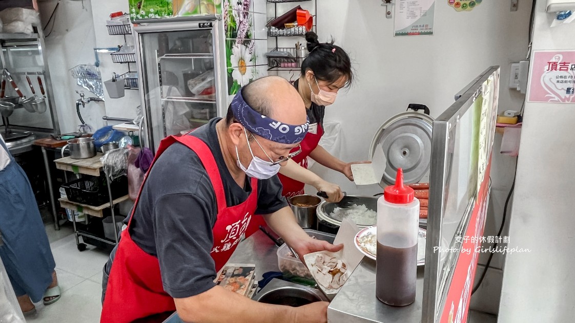
[(313, 302), (329, 302), (321, 291), (299, 284), (273, 279), (254, 297), (261, 303), (302, 306)]

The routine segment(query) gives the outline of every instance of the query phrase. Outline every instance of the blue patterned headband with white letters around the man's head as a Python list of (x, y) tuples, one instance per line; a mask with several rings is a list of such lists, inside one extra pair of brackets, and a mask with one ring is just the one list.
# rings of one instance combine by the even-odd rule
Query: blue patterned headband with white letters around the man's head
[(241, 89), (232, 100), (233, 116), (248, 131), (267, 140), (280, 144), (297, 144), (304, 140), (308, 133), (309, 119), (302, 125), (288, 125), (262, 116), (248, 105), (241, 96)]

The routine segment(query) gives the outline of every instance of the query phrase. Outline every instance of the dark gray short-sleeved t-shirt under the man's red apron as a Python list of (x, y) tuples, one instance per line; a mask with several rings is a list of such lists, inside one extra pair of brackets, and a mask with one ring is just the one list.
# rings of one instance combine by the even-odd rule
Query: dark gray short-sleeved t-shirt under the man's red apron
[[(229, 174), (216, 134), (216, 122), (195, 130), (220, 170), (228, 206), (239, 205), (251, 193), (250, 180), (240, 187)], [(258, 180), (258, 209), (270, 214), (285, 207), (277, 176)], [(216, 223), (216, 195), (198, 155), (175, 143), (158, 158), (148, 175), (130, 226), (132, 240), (146, 253), (158, 257), (164, 290), (171, 297), (204, 293), (215, 284), (215, 264), (210, 256), (212, 228)]]

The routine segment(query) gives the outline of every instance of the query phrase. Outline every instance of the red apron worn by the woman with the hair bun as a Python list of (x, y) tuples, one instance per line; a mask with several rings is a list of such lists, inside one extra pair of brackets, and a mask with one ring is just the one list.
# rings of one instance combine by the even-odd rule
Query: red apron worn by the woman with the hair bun
[[(304, 140), (301, 141), (301, 153), (296, 157), (293, 157), (293, 161), (300, 164), (301, 167), (308, 168), (308, 156), (316, 149), (317, 144), (319, 144), (321, 136), (323, 136), (324, 130), (323, 126), (318, 122), (317, 123), (317, 133), (310, 133), (308, 132)], [(298, 147), (294, 148), (294, 151), (297, 151)], [(282, 195), (285, 197), (294, 197), (296, 195), (304, 194), (304, 186), (305, 184), (302, 182), (298, 182), (295, 179), (291, 179), (289, 177), (283, 176), (282, 174), (278, 174), (279, 180), (281, 180), (283, 185)]]

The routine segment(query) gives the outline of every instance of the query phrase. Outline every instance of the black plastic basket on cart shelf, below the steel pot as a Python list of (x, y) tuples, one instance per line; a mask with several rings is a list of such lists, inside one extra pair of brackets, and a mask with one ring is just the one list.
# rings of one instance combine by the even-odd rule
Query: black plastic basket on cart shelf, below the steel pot
[[(66, 196), (71, 202), (100, 206), (110, 201), (106, 176), (86, 176), (62, 184), (62, 187), (64, 187)], [(120, 176), (112, 180), (110, 189), (113, 199), (128, 194), (128, 178)]]

